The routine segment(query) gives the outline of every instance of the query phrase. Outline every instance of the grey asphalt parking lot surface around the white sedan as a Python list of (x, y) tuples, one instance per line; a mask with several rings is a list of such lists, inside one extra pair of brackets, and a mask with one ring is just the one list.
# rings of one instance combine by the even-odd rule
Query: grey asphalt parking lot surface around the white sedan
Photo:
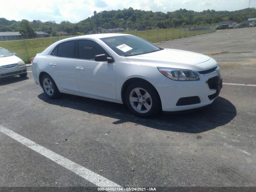
[[(102, 176), (119, 186), (157, 191), (177, 186), (256, 187), (256, 28), (158, 46), (218, 61), (224, 85), (213, 104), (143, 119), (121, 104), (66, 94), (48, 99), (31, 72), (23, 79), (5, 78), (0, 82), (0, 186), (95, 187), (94, 177)], [(13, 137), (27, 144), (3, 130), (15, 132)], [(42, 155), (27, 141), (59, 156)], [(53, 156), (63, 157), (64, 165), (58, 158), (51, 160)], [(81, 176), (70, 166), (73, 162), (95, 174)]]

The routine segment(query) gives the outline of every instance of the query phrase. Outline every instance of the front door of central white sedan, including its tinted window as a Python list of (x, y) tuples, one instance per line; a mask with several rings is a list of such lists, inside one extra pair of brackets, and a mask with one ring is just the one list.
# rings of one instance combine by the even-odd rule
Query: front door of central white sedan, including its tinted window
[(74, 62), (80, 93), (116, 100), (116, 64), (96, 62), (94, 57), (108, 53), (92, 40), (78, 40)]

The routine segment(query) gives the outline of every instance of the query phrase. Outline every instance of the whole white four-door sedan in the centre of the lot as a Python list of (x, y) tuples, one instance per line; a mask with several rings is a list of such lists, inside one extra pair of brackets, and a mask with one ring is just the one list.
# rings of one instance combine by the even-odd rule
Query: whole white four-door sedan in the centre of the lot
[(49, 98), (66, 93), (126, 104), (141, 117), (206, 106), (222, 88), (213, 58), (128, 34), (60, 40), (36, 55), (32, 72)]

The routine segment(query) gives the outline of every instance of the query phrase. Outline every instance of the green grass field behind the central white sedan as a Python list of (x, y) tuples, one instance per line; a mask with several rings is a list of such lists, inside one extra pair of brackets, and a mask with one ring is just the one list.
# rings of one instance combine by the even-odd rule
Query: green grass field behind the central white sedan
[[(145, 31), (138, 31), (138, 32), (129, 31), (129, 32), (123, 32), (123, 33), (136, 35), (150, 42), (161, 42), (166, 40), (206, 34), (210, 32), (214, 32), (214, 30), (185, 31), (179, 28), (172, 28), (172, 29), (159, 29), (159, 30), (145, 30)], [(42, 52), (54, 42), (64, 38), (69, 38), (69, 37), (72, 37), (72, 36), (16, 40), (16, 41), (3, 41), (3, 42), (0, 42), (0, 47), (8, 49), (10, 52), (17, 53), (18, 57), (20, 57), (24, 62), (30, 63), (30, 59), (36, 56), (37, 53)], [(25, 44), (26, 44), (26, 47), (25, 47)], [(26, 48), (27, 48), (28, 54), (26, 53)]]

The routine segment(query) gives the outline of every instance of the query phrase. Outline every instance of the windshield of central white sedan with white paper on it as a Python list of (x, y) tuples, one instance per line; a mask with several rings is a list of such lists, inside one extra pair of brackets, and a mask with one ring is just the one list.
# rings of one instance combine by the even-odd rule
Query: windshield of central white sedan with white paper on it
[(133, 35), (106, 37), (100, 40), (120, 56), (134, 56), (162, 50), (162, 48)]

